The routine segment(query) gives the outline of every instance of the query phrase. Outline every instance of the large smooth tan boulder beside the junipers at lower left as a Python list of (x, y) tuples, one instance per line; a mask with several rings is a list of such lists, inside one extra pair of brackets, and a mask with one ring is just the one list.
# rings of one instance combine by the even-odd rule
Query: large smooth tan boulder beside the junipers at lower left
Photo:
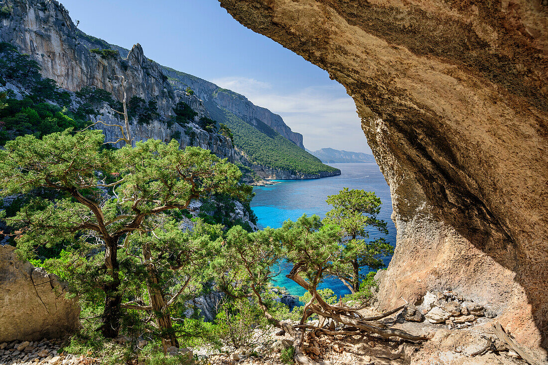
[(14, 251), (0, 246), (0, 343), (57, 338), (78, 328), (80, 309), (65, 299), (65, 284)]

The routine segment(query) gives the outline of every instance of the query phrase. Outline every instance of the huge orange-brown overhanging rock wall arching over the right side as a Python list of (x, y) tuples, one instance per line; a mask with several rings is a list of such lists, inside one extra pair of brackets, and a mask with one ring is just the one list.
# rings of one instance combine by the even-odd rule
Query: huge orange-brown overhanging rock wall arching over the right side
[(220, 3), (356, 101), (398, 230), (380, 304), (458, 288), (548, 347), (546, 1)]

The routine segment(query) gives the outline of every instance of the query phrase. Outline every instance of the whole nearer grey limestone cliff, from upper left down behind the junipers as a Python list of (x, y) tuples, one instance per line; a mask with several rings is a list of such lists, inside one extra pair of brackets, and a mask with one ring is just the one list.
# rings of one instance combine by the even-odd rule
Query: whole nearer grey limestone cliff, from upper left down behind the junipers
[[(173, 90), (161, 67), (147, 59), (139, 44), (131, 50), (118, 47), (118, 53), (101, 54), (100, 51), (110, 49), (111, 45), (78, 31), (68, 11), (59, 2), (7, 0), (5, 5), (10, 7), (11, 14), (0, 21), (0, 40), (15, 45), (20, 53), (36, 60), (43, 77), (55, 80), (61, 88), (69, 91), (93, 86), (111, 92), (116, 100), (122, 100), (124, 89), (116, 76), (124, 76), (128, 100), (136, 96), (145, 103), (156, 103), (157, 118), (146, 124), (132, 123), (135, 140), (155, 138), (169, 142), (176, 137), (181, 148), (198, 146), (234, 161), (235, 150), (230, 138), (198, 126), (200, 118), (209, 117), (202, 101), (195, 95)], [(166, 122), (174, 115), (173, 108), (180, 101), (187, 103), (197, 115), (184, 127), (176, 123), (168, 126)], [(79, 101), (75, 100), (75, 103)], [(91, 115), (90, 119), (101, 118), (107, 124), (118, 123), (117, 116), (106, 103), (99, 112), (101, 115)], [(107, 141), (117, 140), (116, 127), (101, 125), (100, 128)], [(119, 143), (115, 146), (121, 147)]]

